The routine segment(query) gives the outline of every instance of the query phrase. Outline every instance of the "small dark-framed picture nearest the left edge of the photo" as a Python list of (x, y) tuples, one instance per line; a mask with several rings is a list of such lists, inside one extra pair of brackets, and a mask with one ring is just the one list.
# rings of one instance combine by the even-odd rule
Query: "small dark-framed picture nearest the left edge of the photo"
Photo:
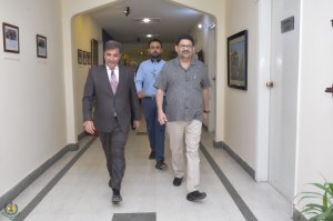
[(3, 50), (20, 53), (19, 27), (2, 22)]

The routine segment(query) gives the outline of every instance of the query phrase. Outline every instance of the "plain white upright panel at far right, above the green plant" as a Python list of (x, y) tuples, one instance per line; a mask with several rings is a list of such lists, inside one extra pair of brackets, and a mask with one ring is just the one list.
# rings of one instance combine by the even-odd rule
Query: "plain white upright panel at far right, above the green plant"
[[(302, 1), (296, 193), (333, 182), (333, 1)], [(300, 208), (300, 207), (299, 207)]]

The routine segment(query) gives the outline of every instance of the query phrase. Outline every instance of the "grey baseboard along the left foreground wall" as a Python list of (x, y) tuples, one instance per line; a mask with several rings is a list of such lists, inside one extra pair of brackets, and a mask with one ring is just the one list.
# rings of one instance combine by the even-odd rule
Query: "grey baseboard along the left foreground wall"
[(67, 152), (78, 150), (77, 143), (69, 143), (57, 152), (52, 158), (47, 160), (34, 171), (23, 178), (17, 185), (0, 197), (0, 210), (2, 210), (8, 203), (16, 199), (27, 187), (29, 187), (36, 179), (38, 179), (44, 171), (47, 171), (54, 162), (61, 159)]

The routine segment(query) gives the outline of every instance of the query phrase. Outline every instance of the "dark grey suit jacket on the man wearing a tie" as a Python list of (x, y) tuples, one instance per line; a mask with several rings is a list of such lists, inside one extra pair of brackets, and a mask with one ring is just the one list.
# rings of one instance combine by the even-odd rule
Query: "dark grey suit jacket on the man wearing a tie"
[(99, 132), (111, 132), (117, 120), (123, 132), (128, 132), (131, 123), (131, 110), (134, 120), (141, 119), (139, 99), (133, 72), (128, 67), (119, 66), (119, 83), (113, 94), (104, 64), (89, 70), (83, 99), (83, 122), (92, 120)]

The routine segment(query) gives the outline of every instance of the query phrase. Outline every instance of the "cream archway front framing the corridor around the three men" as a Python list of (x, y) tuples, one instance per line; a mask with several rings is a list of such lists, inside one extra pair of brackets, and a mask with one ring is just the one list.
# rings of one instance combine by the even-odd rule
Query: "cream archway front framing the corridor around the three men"
[[(75, 142), (77, 134), (75, 134), (75, 110), (74, 110), (74, 80), (73, 80), (73, 60), (74, 53), (71, 48), (71, 19), (73, 16), (92, 10), (94, 8), (103, 7), (107, 4), (112, 4), (115, 1), (113, 0), (79, 0), (75, 2), (62, 0), (62, 26), (63, 26), (63, 64), (64, 64), (64, 83), (65, 83), (65, 107), (67, 107), (67, 128), (68, 128), (68, 142)], [(176, 3), (181, 3), (188, 7), (191, 7), (196, 10), (201, 10), (203, 12), (208, 12), (216, 18), (218, 28), (216, 28), (216, 38), (224, 39), (224, 0), (178, 0), (174, 1)], [(216, 93), (220, 94), (216, 100), (216, 109), (219, 115), (216, 115), (216, 121), (220, 122), (216, 125), (216, 133), (215, 140), (221, 141), (223, 140), (223, 102), (224, 102), (224, 94), (223, 94), (223, 87), (224, 87), (224, 51), (225, 51), (225, 42), (218, 41), (216, 42), (216, 59), (221, 62), (218, 63), (218, 71), (216, 71)]]

